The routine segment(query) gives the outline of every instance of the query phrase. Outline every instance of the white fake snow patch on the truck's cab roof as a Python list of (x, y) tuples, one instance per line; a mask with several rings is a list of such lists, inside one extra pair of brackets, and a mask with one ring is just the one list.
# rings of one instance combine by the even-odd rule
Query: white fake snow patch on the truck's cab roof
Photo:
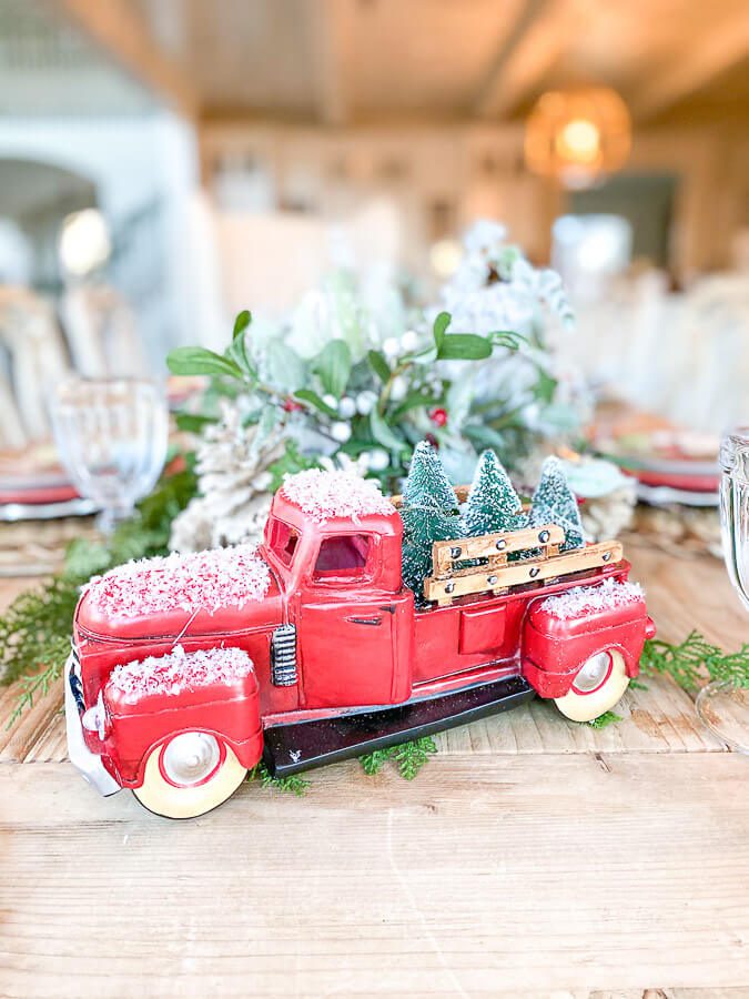
[(302, 513), (321, 524), (334, 517), (347, 517), (356, 523), (360, 517), (373, 514), (391, 516), (395, 512), (376, 482), (351, 472), (311, 468), (287, 475), (281, 493)]

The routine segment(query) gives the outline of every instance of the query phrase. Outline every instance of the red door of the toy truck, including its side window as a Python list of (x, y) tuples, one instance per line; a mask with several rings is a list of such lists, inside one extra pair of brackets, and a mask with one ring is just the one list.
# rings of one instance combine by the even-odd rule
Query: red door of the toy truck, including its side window
[(298, 608), (305, 708), (358, 707), (393, 699), (394, 595), (377, 587), (381, 538), (323, 537)]

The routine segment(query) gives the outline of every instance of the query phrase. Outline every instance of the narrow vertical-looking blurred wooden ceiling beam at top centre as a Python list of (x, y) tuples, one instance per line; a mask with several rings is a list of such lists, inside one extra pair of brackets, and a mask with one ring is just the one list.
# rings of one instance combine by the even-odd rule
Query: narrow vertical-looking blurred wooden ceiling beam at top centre
[(326, 125), (343, 125), (350, 118), (353, 23), (350, 0), (317, 0), (310, 4), (317, 70), (317, 107)]

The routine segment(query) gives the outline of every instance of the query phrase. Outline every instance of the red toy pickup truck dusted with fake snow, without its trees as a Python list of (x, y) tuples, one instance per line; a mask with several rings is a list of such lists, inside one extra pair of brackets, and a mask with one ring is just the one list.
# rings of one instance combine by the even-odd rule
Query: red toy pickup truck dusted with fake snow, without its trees
[[(655, 633), (618, 545), (540, 547), (503, 556), (502, 571), (485, 559), (433, 577), (425, 593), (437, 599), (415, 604), (401, 516), (362, 483), (301, 473), (274, 497), (257, 549), (172, 555), (92, 581), (65, 708), (71, 760), (102, 794), (129, 787), (183, 818), (225, 800), (261, 758), (293, 774), (536, 694), (575, 720), (616, 704)], [(532, 534), (548, 547), (558, 532)], [(518, 534), (479, 543), (527, 548)]]

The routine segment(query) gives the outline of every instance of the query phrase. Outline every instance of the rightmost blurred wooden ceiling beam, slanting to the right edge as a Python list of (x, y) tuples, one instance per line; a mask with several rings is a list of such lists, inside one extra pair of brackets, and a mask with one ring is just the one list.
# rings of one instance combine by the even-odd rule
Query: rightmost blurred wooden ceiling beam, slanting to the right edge
[(689, 51), (642, 83), (629, 101), (632, 115), (641, 121), (654, 118), (682, 98), (701, 90), (715, 77), (731, 69), (749, 52), (749, 17), (728, 17), (702, 33)]

